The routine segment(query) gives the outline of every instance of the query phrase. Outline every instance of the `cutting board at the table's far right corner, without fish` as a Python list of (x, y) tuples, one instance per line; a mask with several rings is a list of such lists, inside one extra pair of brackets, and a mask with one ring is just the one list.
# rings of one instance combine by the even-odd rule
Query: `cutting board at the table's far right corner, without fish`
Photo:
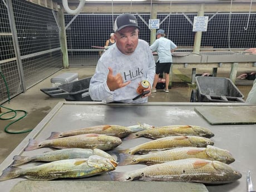
[(200, 106), (194, 110), (211, 125), (256, 124), (256, 106)]

